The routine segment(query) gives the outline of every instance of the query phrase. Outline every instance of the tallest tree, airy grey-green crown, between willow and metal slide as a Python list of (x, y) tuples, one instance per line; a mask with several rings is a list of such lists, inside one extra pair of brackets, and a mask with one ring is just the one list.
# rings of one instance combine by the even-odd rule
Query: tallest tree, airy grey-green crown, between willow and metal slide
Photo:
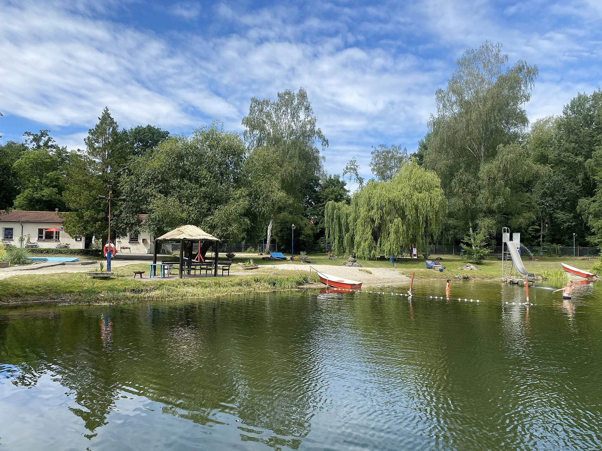
[[(503, 186), (487, 182), (491, 170), (486, 165), (495, 161), (501, 149), (510, 149), (507, 146), (523, 140), (528, 123), (524, 105), (538, 75), (536, 66), (522, 60), (510, 67), (507, 63), (508, 56), (501, 53), (501, 44), (486, 41), (479, 49), (465, 52), (447, 88), (436, 91), (437, 115), (429, 121), (430, 132), (421, 144), (420, 156), (423, 165), (441, 177), (449, 200), (444, 227), (447, 241), (457, 241), (466, 235), (467, 229), (486, 227), (487, 232), (495, 233), (500, 221), (524, 222), (512, 218), (512, 209), (488, 216), (488, 205), (482, 202), (494, 194), (481, 195), (487, 189), (507, 192), (510, 185), (520, 190), (514, 198), (526, 198), (521, 193), (529, 191), (529, 186), (514, 183), (511, 174), (501, 179), (508, 182)], [(511, 150), (518, 157), (517, 149)], [(526, 159), (512, 158), (512, 164), (515, 174), (532, 169), (523, 168), (529, 165)], [(509, 170), (504, 164), (501, 167)], [(521, 207), (520, 211), (523, 210)]]

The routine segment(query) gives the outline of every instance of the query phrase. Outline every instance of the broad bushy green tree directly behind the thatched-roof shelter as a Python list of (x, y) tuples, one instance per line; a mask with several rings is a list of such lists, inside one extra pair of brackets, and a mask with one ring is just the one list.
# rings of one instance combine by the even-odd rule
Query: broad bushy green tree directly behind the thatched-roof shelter
[[(116, 210), (117, 233), (149, 230), (152, 235), (193, 224), (220, 239), (243, 239), (249, 221), (244, 187), (246, 153), (238, 133), (220, 123), (192, 137), (171, 137), (131, 160), (120, 179), (126, 201)], [(144, 224), (140, 214), (146, 213)]]

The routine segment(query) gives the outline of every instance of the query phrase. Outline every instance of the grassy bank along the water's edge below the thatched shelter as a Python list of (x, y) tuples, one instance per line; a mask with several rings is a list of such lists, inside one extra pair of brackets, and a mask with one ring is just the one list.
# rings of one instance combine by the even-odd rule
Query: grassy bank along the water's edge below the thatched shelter
[(119, 268), (118, 275), (109, 280), (93, 280), (79, 273), (9, 277), (0, 280), (0, 304), (213, 298), (222, 295), (292, 290), (317, 281), (310, 280), (309, 274), (294, 271), (282, 271), (278, 275), (134, 280), (131, 275), (133, 271), (140, 269), (139, 266), (142, 265)]

